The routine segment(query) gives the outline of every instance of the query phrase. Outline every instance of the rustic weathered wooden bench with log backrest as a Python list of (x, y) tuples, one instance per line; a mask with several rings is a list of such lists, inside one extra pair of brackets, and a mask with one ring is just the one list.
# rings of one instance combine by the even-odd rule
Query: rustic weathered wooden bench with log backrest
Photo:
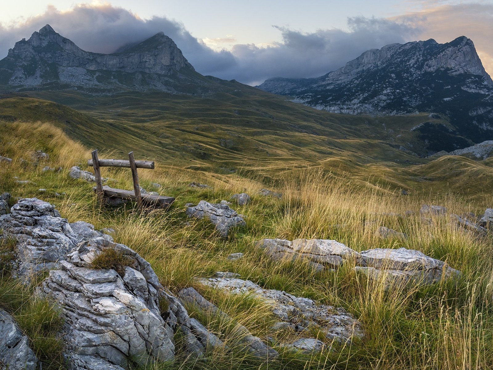
[[(94, 177), (96, 178), (96, 186), (93, 190), (98, 196), (100, 204), (105, 203), (105, 198), (118, 198), (124, 200), (132, 200), (137, 202), (139, 210), (143, 210), (144, 207), (150, 208), (162, 208), (168, 209), (175, 201), (175, 198), (170, 196), (154, 195), (154, 194), (141, 194), (141, 187), (139, 185), (139, 176), (137, 175), (138, 168), (154, 169), (153, 161), (141, 161), (134, 159), (134, 152), (128, 153), (128, 161), (124, 159), (99, 159), (98, 150), (92, 151), (92, 159), (87, 161), (89, 166), (94, 168)], [(125, 167), (132, 170), (132, 179), (134, 182), (134, 191), (116, 189), (109, 186), (103, 186), (101, 180), (100, 167)]]

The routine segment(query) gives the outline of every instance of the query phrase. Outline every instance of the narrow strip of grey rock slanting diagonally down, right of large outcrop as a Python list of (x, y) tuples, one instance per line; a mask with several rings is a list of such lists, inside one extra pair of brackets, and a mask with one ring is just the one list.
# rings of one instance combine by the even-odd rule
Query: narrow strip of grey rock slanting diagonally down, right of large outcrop
[(260, 340), (260, 338), (253, 336), (243, 325), (240, 325), (239, 323), (231, 319), (231, 317), (217, 308), (217, 306), (209, 302), (206, 298), (201, 296), (195, 289), (182, 289), (178, 293), (178, 297), (181, 299), (181, 301), (188, 304), (193, 304), (197, 308), (201, 309), (205, 314), (213, 315), (223, 322), (230, 322), (232, 325), (234, 325), (235, 332), (238, 334), (239, 337), (240, 350), (243, 350), (244, 352), (249, 353), (256, 358), (265, 361), (279, 356), (279, 353), (275, 349), (266, 345), (264, 342), (262, 342), (262, 340)]

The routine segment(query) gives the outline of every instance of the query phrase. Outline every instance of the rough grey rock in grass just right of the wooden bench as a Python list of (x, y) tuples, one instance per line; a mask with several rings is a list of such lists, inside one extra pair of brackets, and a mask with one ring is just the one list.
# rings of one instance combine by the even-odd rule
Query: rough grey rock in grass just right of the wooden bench
[(230, 228), (246, 225), (245, 220), (227, 205), (211, 204), (205, 200), (201, 200), (195, 207), (188, 207), (186, 214), (197, 219), (208, 218), (222, 237), (228, 236)]

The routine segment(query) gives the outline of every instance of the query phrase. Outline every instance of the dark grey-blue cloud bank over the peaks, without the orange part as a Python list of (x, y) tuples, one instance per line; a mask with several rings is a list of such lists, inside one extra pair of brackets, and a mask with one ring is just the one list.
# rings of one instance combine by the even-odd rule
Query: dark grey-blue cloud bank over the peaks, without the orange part
[(349, 31), (339, 29), (303, 33), (276, 27), (282, 42), (268, 47), (237, 44), (231, 51), (214, 51), (193, 37), (183, 24), (165, 17), (143, 20), (128, 10), (105, 5), (78, 5), (61, 12), (49, 6), (42, 15), (14, 28), (0, 26), (0, 57), (23, 37), (50, 24), (84, 50), (110, 53), (127, 43), (140, 42), (158, 32), (171, 37), (202, 74), (258, 84), (269, 77), (314, 77), (342, 67), (365, 50), (412, 40), (417, 34), (402, 20), (355, 17)]

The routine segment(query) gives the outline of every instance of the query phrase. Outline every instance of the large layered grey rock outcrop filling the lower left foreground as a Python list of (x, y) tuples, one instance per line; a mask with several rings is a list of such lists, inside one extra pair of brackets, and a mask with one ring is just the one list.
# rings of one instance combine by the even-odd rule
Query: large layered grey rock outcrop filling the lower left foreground
[[(123, 370), (129, 361), (171, 361), (177, 332), (191, 357), (221, 345), (188, 316), (146, 260), (92, 224), (69, 223), (53, 205), (26, 198), (0, 217), (0, 227), (18, 241), (16, 276), (51, 269), (37, 294), (61, 309), (69, 369)], [(118, 256), (119, 265), (94, 267), (108, 251)]]

